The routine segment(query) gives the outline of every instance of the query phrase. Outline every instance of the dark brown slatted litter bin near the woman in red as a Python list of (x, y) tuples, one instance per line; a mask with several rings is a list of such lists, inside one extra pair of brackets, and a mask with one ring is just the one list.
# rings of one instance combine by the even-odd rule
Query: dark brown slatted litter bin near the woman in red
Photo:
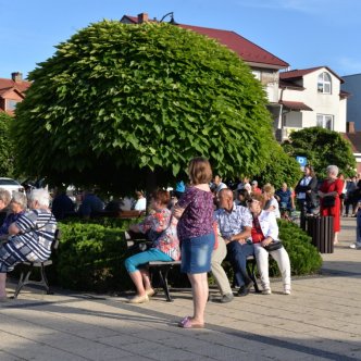
[(334, 217), (307, 217), (307, 233), (312, 237), (312, 244), (320, 253), (334, 252)]

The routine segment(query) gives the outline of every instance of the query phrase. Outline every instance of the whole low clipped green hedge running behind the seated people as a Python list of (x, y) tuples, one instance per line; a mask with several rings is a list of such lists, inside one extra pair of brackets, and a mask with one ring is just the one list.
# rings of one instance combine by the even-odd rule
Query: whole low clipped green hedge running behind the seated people
[[(54, 266), (50, 275), (51, 283), (67, 289), (99, 292), (132, 289), (133, 284), (124, 267), (124, 260), (129, 252), (123, 232), (128, 225), (129, 221), (115, 219), (60, 223), (61, 240), (52, 257)], [(311, 245), (311, 238), (297, 225), (279, 221), (279, 238), (289, 254), (292, 275), (309, 275), (320, 270), (321, 256)], [(232, 281), (233, 271), (226, 262), (225, 270)], [(270, 275), (279, 275), (273, 260), (270, 261)], [(188, 286), (178, 269), (170, 273), (169, 281), (178, 287)]]

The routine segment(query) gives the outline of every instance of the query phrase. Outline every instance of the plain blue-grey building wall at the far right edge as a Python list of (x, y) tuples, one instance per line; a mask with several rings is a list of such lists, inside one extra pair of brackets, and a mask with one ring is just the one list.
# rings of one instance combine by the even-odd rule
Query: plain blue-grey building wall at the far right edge
[(351, 94), (347, 101), (347, 122), (354, 123), (354, 129), (361, 130), (361, 74), (343, 76), (341, 89)]

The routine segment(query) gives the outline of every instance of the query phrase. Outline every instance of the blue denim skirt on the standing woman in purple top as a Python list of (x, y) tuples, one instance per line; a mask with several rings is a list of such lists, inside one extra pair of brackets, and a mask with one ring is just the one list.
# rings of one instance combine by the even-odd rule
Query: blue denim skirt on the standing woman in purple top
[(183, 273), (204, 273), (211, 271), (214, 233), (182, 240)]

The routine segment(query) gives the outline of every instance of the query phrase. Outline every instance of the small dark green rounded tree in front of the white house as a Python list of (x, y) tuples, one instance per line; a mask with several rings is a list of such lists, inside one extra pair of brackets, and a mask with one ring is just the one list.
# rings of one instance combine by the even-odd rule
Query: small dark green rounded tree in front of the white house
[(334, 130), (310, 127), (290, 134), (289, 141), (283, 144), (291, 157), (306, 157), (319, 177), (324, 177), (327, 165), (335, 164), (340, 172), (354, 174), (356, 160), (350, 144)]

